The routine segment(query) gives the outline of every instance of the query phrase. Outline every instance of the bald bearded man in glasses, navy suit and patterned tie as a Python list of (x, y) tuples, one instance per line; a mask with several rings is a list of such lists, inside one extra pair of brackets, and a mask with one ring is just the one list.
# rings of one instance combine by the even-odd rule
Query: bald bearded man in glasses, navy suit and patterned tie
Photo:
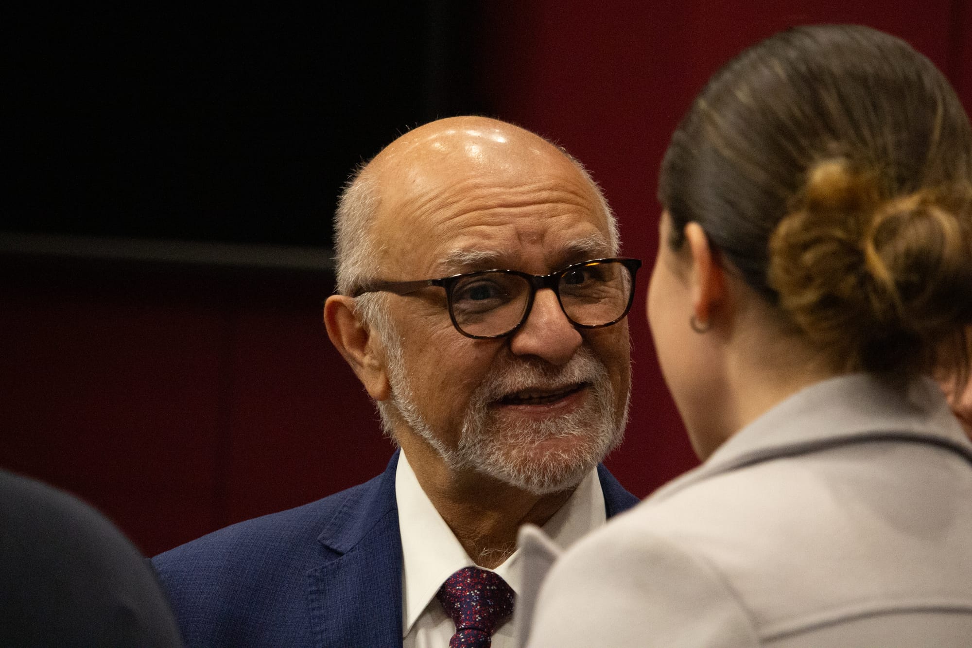
[(566, 546), (637, 502), (600, 461), (627, 417), (640, 262), (577, 162), (478, 117), (390, 144), (334, 225), (325, 324), (399, 450), (363, 485), (156, 557), (185, 639), (512, 646), (519, 526)]

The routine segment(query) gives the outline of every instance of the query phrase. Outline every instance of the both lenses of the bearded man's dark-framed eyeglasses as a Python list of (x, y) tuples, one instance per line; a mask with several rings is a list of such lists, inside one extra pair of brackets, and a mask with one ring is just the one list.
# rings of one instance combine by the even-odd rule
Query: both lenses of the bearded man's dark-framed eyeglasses
[[(624, 313), (631, 298), (631, 273), (616, 262), (576, 266), (558, 282), (567, 316), (582, 326), (601, 326)], [(501, 336), (519, 325), (530, 302), (530, 281), (508, 272), (480, 272), (452, 287), (452, 314), (471, 336)]]

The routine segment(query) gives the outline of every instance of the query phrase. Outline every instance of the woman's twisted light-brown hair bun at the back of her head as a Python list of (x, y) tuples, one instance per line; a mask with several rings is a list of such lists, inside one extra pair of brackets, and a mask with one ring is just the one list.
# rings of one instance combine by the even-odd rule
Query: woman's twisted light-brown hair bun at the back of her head
[(816, 163), (769, 241), (782, 310), (841, 371), (912, 374), (967, 341), (972, 191), (887, 197), (880, 174)]

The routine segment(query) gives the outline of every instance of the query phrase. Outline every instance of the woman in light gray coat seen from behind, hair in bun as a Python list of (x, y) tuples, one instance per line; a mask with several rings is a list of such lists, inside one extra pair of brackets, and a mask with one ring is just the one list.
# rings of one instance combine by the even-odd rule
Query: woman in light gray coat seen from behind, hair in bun
[(531, 646), (972, 645), (972, 132), (858, 26), (790, 29), (662, 164), (648, 320), (704, 463), (561, 558)]

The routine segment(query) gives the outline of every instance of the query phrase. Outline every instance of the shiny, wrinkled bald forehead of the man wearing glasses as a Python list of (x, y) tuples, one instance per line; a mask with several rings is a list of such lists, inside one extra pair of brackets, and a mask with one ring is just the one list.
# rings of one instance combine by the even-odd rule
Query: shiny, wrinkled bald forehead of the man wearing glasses
[(486, 265), (490, 256), (515, 259), (522, 246), (611, 248), (608, 216), (588, 178), (515, 126), (420, 128), (372, 163), (382, 197), (372, 234), (384, 261), (404, 262), (419, 248), (439, 260), (478, 255)]

